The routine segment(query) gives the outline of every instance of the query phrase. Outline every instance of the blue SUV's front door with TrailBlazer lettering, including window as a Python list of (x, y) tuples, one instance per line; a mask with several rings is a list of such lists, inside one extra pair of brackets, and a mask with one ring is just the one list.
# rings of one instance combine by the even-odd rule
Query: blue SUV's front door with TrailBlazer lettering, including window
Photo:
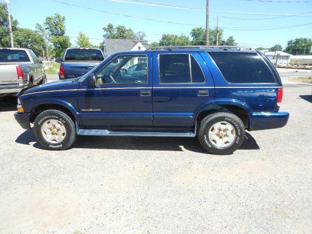
[(80, 86), (81, 121), (88, 128), (153, 127), (151, 53), (119, 55), (96, 72), (97, 85)]

